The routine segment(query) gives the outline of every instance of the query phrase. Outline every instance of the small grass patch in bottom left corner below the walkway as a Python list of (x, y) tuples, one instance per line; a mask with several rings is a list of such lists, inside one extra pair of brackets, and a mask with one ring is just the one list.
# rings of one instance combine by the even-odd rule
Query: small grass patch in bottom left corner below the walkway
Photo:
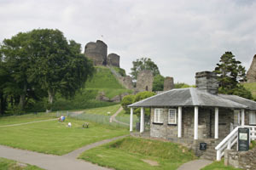
[(43, 170), (42, 168), (0, 157), (1, 170)]

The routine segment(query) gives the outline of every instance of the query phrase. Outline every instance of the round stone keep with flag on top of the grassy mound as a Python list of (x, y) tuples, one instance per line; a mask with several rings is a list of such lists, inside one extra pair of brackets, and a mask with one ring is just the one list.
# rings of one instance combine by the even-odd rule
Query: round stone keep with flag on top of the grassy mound
[(118, 54), (108, 54), (108, 45), (101, 40), (88, 42), (84, 48), (84, 55), (91, 59), (94, 65), (119, 67), (120, 56)]

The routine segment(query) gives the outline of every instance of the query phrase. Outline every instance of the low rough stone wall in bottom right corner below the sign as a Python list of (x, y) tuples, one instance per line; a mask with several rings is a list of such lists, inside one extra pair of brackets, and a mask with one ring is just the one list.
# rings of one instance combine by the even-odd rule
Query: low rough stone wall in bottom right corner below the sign
[(256, 148), (248, 151), (225, 150), (225, 165), (232, 167), (256, 170)]

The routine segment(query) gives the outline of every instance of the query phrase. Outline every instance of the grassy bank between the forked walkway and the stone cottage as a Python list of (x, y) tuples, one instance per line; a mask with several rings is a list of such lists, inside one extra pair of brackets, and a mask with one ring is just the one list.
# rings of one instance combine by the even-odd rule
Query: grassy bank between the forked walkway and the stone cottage
[(195, 155), (178, 144), (127, 137), (87, 150), (79, 158), (117, 170), (170, 170), (195, 159)]

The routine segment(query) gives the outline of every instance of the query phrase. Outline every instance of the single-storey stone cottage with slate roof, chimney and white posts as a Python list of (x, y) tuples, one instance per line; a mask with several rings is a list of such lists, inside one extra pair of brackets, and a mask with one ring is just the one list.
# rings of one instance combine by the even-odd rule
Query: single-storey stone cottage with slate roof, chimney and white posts
[(256, 102), (217, 94), (216, 76), (210, 71), (196, 73), (195, 78), (197, 88), (172, 89), (129, 105), (131, 125), (133, 108), (140, 107), (140, 132), (144, 133), (144, 108), (150, 108), (150, 137), (186, 144), (197, 156), (216, 159), (216, 151), (208, 150), (207, 154), (200, 150), (200, 143), (218, 144), (237, 126), (255, 126)]

